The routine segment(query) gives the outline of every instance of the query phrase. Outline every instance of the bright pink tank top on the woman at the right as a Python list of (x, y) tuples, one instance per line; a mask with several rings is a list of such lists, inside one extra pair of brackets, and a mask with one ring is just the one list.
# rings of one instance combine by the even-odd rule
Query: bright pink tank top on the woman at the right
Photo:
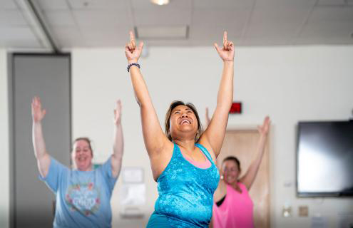
[(253, 228), (254, 204), (245, 185), (238, 182), (242, 193), (227, 185), (227, 195), (220, 207), (213, 203), (213, 227), (215, 228)]

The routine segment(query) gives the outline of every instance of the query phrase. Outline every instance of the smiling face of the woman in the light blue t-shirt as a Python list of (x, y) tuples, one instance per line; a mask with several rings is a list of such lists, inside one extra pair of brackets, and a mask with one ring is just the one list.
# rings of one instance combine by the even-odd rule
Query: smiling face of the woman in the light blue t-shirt
[(92, 157), (92, 150), (86, 140), (78, 140), (73, 144), (72, 160), (78, 170), (90, 170)]

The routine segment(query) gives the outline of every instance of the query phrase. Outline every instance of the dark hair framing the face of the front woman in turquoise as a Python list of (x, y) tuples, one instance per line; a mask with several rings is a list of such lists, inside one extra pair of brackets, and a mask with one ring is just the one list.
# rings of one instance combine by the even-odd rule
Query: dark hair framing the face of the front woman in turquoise
[(165, 135), (167, 135), (170, 141), (172, 140), (172, 135), (170, 135), (170, 115), (172, 115), (173, 109), (179, 105), (188, 106), (188, 108), (193, 110), (193, 113), (195, 114), (196, 119), (198, 120), (198, 133), (195, 136), (195, 142), (198, 142), (198, 140), (200, 139), (201, 133), (203, 132), (203, 125), (201, 125), (200, 118), (198, 116), (198, 110), (196, 110), (195, 105), (193, 105), (192, 103), (184, 103), (181, 100), (174, 100), (169, 105), (168, 111), (165, 114)]

